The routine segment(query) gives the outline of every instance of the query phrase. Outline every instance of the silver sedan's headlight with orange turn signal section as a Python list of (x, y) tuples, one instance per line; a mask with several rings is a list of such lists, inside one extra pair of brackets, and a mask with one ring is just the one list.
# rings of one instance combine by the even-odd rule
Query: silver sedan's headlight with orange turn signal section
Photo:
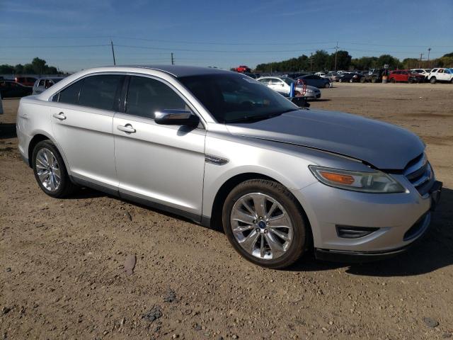
[(360, 172), (310, 165), (316, 179), (327, 186), (363, 193), (404, 193), (400, 183), (382, 171)]

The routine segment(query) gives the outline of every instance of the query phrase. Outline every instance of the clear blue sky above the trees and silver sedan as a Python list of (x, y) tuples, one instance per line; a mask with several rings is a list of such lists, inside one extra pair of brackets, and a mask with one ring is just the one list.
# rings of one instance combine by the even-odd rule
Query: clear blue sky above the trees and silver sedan
[(0, 64), (64, 71), (113, 64), (234, 67), (340, 49), (453, 52), (453, 0), (0, 0)]

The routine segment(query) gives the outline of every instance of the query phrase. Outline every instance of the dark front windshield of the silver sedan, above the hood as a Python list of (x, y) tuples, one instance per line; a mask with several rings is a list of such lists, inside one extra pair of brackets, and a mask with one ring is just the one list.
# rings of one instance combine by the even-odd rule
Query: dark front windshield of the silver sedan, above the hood
[(179, 80), (219, 123), (265, 119), (298, 110), (281, 94), (239, 74), (205, 74)]

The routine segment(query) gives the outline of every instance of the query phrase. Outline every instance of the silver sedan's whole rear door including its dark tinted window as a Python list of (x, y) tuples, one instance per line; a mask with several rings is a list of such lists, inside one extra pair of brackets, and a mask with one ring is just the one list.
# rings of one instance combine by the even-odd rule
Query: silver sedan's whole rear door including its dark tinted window
[(124, 79), (121, 74), (98, 74), (76, 81), (54, 96), (51, 112), (71, 173), (115, 192), (112, 124)]

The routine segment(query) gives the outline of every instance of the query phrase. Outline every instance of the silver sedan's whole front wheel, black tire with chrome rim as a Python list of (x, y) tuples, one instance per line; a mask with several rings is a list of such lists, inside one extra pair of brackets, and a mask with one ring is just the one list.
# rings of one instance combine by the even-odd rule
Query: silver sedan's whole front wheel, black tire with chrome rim
[[(254, 202), (264, 202), (265, 209), (256, 209)], [(241, 221), (234, 216), (241, 217)], [(287, 227), (274, 229), (273, 220)], [(241, 256), (267, 268), (292, 265), (304, 254), (311, 239), (296, 198), (280, 183), (265, 179), (244, 181), (229, 193), (222, 208), (222, 224), (226, 237)]]

